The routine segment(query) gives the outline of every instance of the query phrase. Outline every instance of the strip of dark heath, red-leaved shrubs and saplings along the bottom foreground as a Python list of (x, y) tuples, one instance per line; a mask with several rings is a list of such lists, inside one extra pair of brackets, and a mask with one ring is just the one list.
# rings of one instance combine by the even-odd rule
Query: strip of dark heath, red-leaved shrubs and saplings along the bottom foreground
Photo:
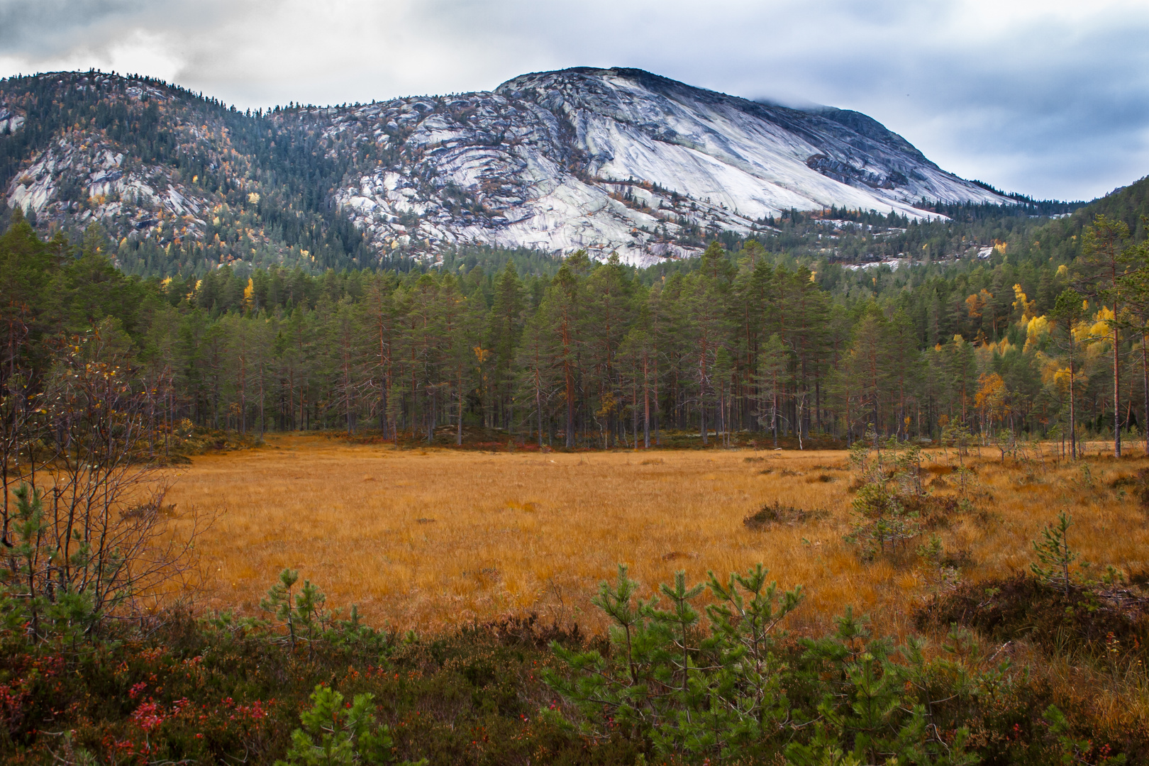
[[(1016, 594), (1019, 620), (1023, 599), (1063, 598), (1035, 587)], [(711, 575), (704, 610), (701, 588), (679, 577), (660, 587), (660, 609), (622, 571), (595, 599), (611, 637), (589, 643), (533, 618), (402, 640), (333, 620), (306, 649), (282, 624), (226, 616), (162, 613), (98, 641), (52, 632), (33, 643), (3, 626), (0, 759), (255, 766), (325, 763), (330, 750), (331, 763), (363, 764), (1048, 764), (1149, 752), (1146, 732), (1100, 726), (1087, 696), (1055, 701), (963, 629), (928, 651), (874, 637), (847, 611), (831, 634), (795, 639), (780, 622), (801, 590), (784, 593), (761, 567)], [(962, 598), (947, 609), (967, 619)], [(947, 603), (923, 624), (948, 619)], [(1080, 605), (1081, 619), (1102, 611)], [(1064, 602), (1050, 608), (1040, 613), (1065, 619)]]

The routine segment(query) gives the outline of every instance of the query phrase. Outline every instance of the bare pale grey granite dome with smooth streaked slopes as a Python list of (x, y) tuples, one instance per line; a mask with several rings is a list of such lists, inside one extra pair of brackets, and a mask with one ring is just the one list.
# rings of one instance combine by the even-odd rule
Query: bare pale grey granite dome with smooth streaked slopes
[(762, 105), (640, 70), (524, 75), (493, 93), (410, 99), (330, 130), (401, 142), (336, 199), (384, 246), (479, 241), (649, 263), (791, 208), (1008, 200), (939, 169), (865, 115)]

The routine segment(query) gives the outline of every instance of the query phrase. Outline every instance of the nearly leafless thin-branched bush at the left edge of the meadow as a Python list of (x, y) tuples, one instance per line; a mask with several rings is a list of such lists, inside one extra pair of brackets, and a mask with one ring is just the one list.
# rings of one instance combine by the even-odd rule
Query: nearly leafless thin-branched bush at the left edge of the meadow
[(210, 523), (194, 510), (178, 532), (170, 523), (171, 475), (153, 457), (154, 399), (164, 392), (140, 382), (125, 341), (105, 324), (60, 349), (25, 427), (47, 459), (15, 477), (36, 497), (34, 524), (30, 505), (18, 519), (5, 509), (8, 595), (43, 609), (82, 604), (85, 632), (139, 618), (183, 585)]

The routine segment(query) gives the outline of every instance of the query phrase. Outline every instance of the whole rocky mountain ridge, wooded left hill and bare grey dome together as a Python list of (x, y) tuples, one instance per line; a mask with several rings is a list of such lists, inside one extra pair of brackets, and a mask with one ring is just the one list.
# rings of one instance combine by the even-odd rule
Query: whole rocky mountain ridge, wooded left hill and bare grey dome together
[(635, 69), (493, 92), (241, 113), (149, 78), (0, 82), (0, 189), (43, 225), (99, 220), (121, 265), (370, 266), (487, 245), (650, 263), (791, 210), (928, 215), (1011, 200), (865, 115)]

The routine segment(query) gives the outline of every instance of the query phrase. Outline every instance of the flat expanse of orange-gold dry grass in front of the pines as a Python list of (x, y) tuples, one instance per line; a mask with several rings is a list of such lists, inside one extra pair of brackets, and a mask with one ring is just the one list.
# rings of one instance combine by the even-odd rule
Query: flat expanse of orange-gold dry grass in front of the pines
[[(931, 454), (933, 473), (951, 457)], [(700, 580), (762, 562), (781, 585), (807, 588), (792, 627), (823, 627), (853, 604), (886, 630), (909, 632), (911, 608), (936, 579), (915, 557), (863, 564), (842, 542), (846, 463), (839, 451), (481, 454), (288, 435), (194, 458), (169, 496), (178, 508), (223, 511), (199, 543), (215, 609), (257, 611), (278, 571), (292, 567), (376, 624), (434, 630), (538, 611), (595, 629), (589, 596), (617, 563), (649, 587), (676, 570)], [(1001, 466), (987, 450), (972, 463), (993, 497), (982, 503), (988, 518), (962, 516), (940, 529), (947, 549), (972, 556), (964, 577), (1027, 567), (1030, 541), (1062, 508), (1085, 558), (1102, 570), (1149, 566), (1146, 512), (1109, 486), (1149, 461), (1090, 458), (1092, 488), (1079, 465), (1050, 456)], [(831, 513), (743, 526), (776, 500)]]

